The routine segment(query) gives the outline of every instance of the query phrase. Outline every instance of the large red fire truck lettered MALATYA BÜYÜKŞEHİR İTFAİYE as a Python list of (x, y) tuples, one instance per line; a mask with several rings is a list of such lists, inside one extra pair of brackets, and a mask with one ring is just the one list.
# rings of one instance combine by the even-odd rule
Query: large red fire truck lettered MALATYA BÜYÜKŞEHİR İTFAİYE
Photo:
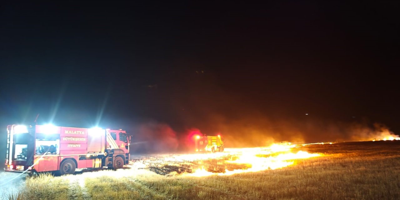
[(129, 141), (122, 129), (9, 125), (5, 170), (64, 175), (76, 168), (118, 169), (129, 162)]

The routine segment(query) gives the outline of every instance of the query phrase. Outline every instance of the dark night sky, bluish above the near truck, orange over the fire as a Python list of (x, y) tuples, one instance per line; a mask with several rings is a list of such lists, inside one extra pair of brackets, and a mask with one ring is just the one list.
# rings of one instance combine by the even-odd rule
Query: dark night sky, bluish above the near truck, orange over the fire
[(399, 134), (398, 10), (398, 1), (3, 3), (0, 141), (6, 125), (37, 114), (38, 124), (124, 128), (136, 141), (166, 129), (178, 141), (198, 129), (248, 146), (346, 140), (376, 126)]

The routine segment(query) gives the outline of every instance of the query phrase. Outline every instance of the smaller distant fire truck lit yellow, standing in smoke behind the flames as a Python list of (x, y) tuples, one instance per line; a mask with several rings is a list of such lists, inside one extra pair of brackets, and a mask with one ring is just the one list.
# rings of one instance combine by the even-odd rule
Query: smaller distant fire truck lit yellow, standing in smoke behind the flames
[(223, 152), (225, 139), (218, 136), (196, 136), (194, 146), (196, 152)]

